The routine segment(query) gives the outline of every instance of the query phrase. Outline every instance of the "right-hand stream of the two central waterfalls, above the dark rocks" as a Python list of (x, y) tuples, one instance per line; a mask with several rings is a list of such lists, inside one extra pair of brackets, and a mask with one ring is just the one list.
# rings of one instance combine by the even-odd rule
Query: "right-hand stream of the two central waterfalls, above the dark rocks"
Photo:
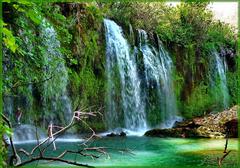
[[(148, 97), (151, 90), (155, 92), (156, 98), (153, 101), (158, 106), (160, 127), (172, 127), (177, 117), (176, 98), (174, 94), (172, 81), (172, 60), (169, 54), (164, 50), (158, 39), (158, 48), (150, 44), (148, 35), (144, 30), (139, 32), (139, 48), (143, 55), (144, 73), (146, 79), (146, 93)], [(149, 104), (150, 102), (148, 102)], [(150, 104), (151, 106), (151, 104)]]

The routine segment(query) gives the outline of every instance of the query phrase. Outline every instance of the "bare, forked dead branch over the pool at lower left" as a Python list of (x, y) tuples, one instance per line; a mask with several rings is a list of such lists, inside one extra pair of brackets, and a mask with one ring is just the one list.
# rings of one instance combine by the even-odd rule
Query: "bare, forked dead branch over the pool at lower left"
[[(12, 156), (12, 160), (11, 163), (13, 166), (16, 167), (20, 167), (20, 166), (24, 166), (26, 164), (35, 162), (35, 161), (40, 161), (40, 160), (45, 160), (45, 161), (51, 161), (51, 162), (63, 162), (63, 163), (67, 163), (67, 164), (71, 164), (71, 165), (76, 165), (76, 166), (83, 166), (83, 167), (91, 167), (87, 164), (81, 164), (78, 163), (76, 161), (71, 161), (71, 160), (66, 160), (63, 159), (63, 157), (67, 154), (76, 154), (83, 156), (83, 157), (91, 157), (92, 159), (96, 159), (99, 158), (102, 155), (106, 155), (109, 157), (109, 154), (107, 152), (107, 149), (110, 148), (106, 148), (106, 147), (88, 147), (87, 143), (89, 141), (91, 141), (92, 139), (99, 137), (95, 131), (88, 125), (88, 123), (86, 121), (84, 121), (84, 119), (89, 118), (89, 117), (95, 117), (98, 114), (101, 115), (100, 110), (98, 111), (89, 111), (89, 112), (85, 112), (85, 110), (87, 110), (88, 108), (85, 108), (84, 110), (77, 110), (73, 113), (72, 119), (69, 122), (68, 125), (66, 125), (65, 127), (60, 127), (60, 126), (55, 126), (52, 123), (49, 125), (48, 127), (48, 137), (45, 138), (44, 140), (42, 140), (41, 142), (39, 141), (39, 136), (37, 133), (37, 127), (36, 127), (36, 138), (37, 138), (37, 145), (33, 147), (33, 149), (28, 152), (24, 149), (19, 149), (18, 151), (16, 150), (13, 142), (12, 142), (12, 138), (10, 137), (10, 142), (11, 142), (11, 147), (12, 147), (12, 151), (13, 151), (13, 156)], [(10, 128), (11, 127), (11, 123), (10, 121), (4, 116), (2, 115), (2, 117), (4, 118), (4, 121), (9, 125)], [(81, 143), (80, 145), (85, 146), (82, 149), (78, 149), (76, 151), (71, 151), (71, 150), (65, 150), (64, 152), (62, 152), (60, 155), (58, 155), (57, 157), (48, 157), (45, 156), (45, 152), (46, 150), (49, 148), (49, 146), (53, 145), (54, 149), (56, 149), (56, 144), (55, 141), (57, 140), (57, 138), (59, 138), (61, 135), (63, 135), (68, 129), (70, 129), (71, 127), (73, 127), (75, 124), (77, 124), (78, 122), (83, 123), (85, 126), (87, 126), (90, 130), (91, 130), (91, 135), (86, 138), (84, 140), (83, 143)], [(57, 130), (56, 132), (53, 131), (53, 128), (58, 128), (59, 130)], [(41, 148), (43, 147), (43, 148)], [(120, 152), (127, 152), (128, 150), (124, 150), (124, 149), (119, 149)], [(38, 153), (36, 153), (38, 152)], [(18, 153), (22, 153), (25, 156), (27, 156), (27, 160), (25, 161), (21, 161), (21, 158), (19, 157)]]

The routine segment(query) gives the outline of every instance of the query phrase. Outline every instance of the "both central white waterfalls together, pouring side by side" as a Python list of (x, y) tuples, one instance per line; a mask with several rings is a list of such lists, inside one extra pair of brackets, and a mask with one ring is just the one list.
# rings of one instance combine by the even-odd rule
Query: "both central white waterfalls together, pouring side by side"
[[(130, 134), (144, 132), (148, 127), (146, 108), (151, 106), (147, 107), (151, 89), (157, 95), (154, 103), (158, 110), (154, 115), (161, 118), (154, 126), (172, 127), (179, 120), (172, 81), (173, 64), (160, 40), (158, 47), (154, 47), (149, 43), (147, 33), (139, 30), (139, 47), (131, 48), (120, 26), (108, 19), (104, 20), (104, 25), (108, 128), (113, 132), (123, 128)], [(131, 41), (133, 36), (130, 26)], [(141, 63), (136, 60), (139, 52), (143, 55), (144, 70), (139, 69)]]

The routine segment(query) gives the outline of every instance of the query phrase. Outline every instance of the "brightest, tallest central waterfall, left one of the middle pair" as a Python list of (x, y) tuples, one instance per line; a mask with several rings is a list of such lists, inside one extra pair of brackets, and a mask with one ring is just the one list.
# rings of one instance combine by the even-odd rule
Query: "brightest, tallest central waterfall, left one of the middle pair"
[[(106, 35), (107, 114), (110, 129), (146, 129), (145, 103), (141, 97), (136, 58), (121, 27), (104, 19)], [(118, 93), (120, 90), (120, 93)], [(121, 114), (121, 112), (123, 114)], [(121, 121), (123, 123), (121, 124)]]

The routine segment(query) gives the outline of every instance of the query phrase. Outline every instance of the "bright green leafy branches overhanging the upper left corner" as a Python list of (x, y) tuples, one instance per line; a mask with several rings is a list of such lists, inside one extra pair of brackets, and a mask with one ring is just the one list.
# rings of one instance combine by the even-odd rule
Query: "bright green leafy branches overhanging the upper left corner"
[[(35, 26), (40, 23), (41, 14), (37, 12), (36, 5), (25, 1), (9, 4), (9, 8), (13, 11), (13, 15), (18, 15), (18, 18), (14, 18), (11, 25), (10, 23), (5, 24), (6, 27), (3, 28), (5, 34), (3, 42), (10, 49), (10, 51), (4, 49), (4, 54), (9, 55), (4, 57), (4, 61), (10, 62), (10, 64), (5, 64), (7, 69), (4, 72), (5, 95), (10, 92), (16, 94), (17, 87), (20, 86), (21, 90), (22, 85), (37, 81), (41, 76), (41, 73), (36, 73), (41, 67), (37, 52), (38, 46), (33, 47), (37, 41)], [(10, 31), (8, 27), (14, 27), (14, 29)]]

